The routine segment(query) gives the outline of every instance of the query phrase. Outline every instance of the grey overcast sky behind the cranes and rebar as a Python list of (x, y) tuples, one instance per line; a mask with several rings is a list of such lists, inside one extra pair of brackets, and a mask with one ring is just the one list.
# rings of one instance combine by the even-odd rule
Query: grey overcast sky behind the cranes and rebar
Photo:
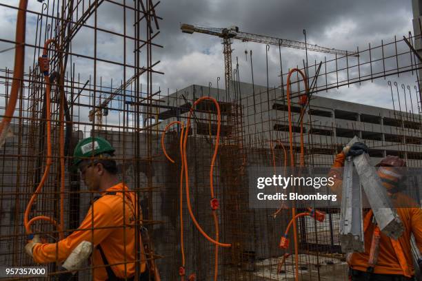
[[(0, 1), (17, 6), (18, 1)], [(41, 3), (30, 0), (29, 9), (41, 11)], [(132, 1), (127, 1), (131, 3)], [(317, 3), (316, 3), (317, 2)], [(49, 7), (51, 8), (51, 7)], [(0, 8), (0, 37), (14, 40), (14, 25), (16, 10)], [(205, 34), (184, 34), (180, 31), (180, 23), (225, 28), (231, 25), (239, 26), (244, 32), (269, 35), (281, 39), (304, 41), (303, 29), (307, 32), (308, 43), (336, 48), (341, 50), (361, 50), (368, 48), (368, 43), (379, 45), (392, 41), (394, 35), (402, 38), (412, 28), (412, 3), (410, 0), (372, 0), (372, 1), (312, 1), (312, 0), (162, 0), (157, 7), (157, 14), (163, 18), (160, 21), (161, 34), (156, 43), (164, 48), (153, 48), (153, 62), (161, 61), (156, 70), (164, 75), (154, 75), (154, 89), (161, 87), (163, 92), (170, 93), (176, 89), (192, 84), (217, 87), (217, 77), (221, 77), (219, 87), (224, 85), (223, 46), (217, 37)], [(128, 33), (132, 32), (132, 14), (128, 14)], [(121, 8), (111, 3), (103, 3), (99, 8), (98, 24), (103, 28), (123, 32), (123, 17)], [(27, 42), (34, 42), (37, 17), (28, 16)], [(93, 23), (90, 19), (88, 23)], [(72, 52), (93, 54), (93, 32), (82, 29), (72, 42)], [(104, 59), (122, 61), (123, 45), (117, 37), (108, 34), (98, 34), (97, 52)], [(245, 58), (245, 50), (253, 52), (254, 82), (266, 85), (265, 45), (259, 43), (244, 43), (234, 41), (232, 45), (233, 67), (236, 59), (239, 61), (241, 81), (251, 83), (250, 58)], [(8, 43), (0, 43), (0, 50), (10, 48)], [(26, 49), (26, 70), (32, 66), (34, 51)], [(127, 53), (132, 54), (133, 46), (127, 46)], [(305, 58), (303, 50), (283, 48), (281, 50), (283, 72), (288, 68), (301, 65)], [(309, 52), (309, 61), (321, 61), (332, 56)], [(0, 54), (1, 67), (12, 67), (13, 50)], [(128, 63), (132, 56), (128, 56)], [(77, 72), (83, 79), (92, 75), (92, 61), (74, 58)], [(279, 50), (271, 46), (268, 52), (269, 85), (279, 86)], [(130, 77), (130, 71), (126, 77)], [(121, 83), (123, 71), (116, 65), (97, 64), (97, 79), (102, 76), (103, 85)], [(82, 79), (82, 80), (83, 80)], [(331, 96), (346, 101), (354, 101), (369, 105), (391, 107), (392, 101), (387, 81), (396, 81), (401, 85), (410, 85), (413, 89), (416, 76), (403, 75), (399, 78), (391, 76), (388, 79), (378, 79), (374, 83), (363, 83), (360, 87), (340, 87), (321, 95)]]

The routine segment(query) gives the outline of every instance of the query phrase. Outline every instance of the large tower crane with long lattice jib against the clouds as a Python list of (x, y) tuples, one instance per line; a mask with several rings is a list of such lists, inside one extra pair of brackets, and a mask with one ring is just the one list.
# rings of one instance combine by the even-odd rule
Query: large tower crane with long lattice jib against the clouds
[(192, 34), (194, 32), (209, 34), (220, 37), (223, 41), (223, 54), (224, 54), (224, 76), (225, 76), (225, 89), (228, 91), (230, 79), (232, 77), (232, 39), (238, 39), (243, 42), (257, 42), (268, 45), (277, 45), (288, 48), (296, 48), (302, 50), (310, 50), (314, 52), (324, 52), (328, 54), (340, 54), (341, 56), (357, 56), (356, 52), (348, 52), (345, 50), (336, 50), (334, 48), (325, 48), (319, 45), (303, 43), (300, 41), (280, 39), (276, 37), (269, 37), (265, 35), (252, 34), (247, 32), (240, 32), (239, 27), (231, 26), (230, 28), (204, 28), (197, 25), (190, 25), (182, 23), (180, 27), (182, 32)]

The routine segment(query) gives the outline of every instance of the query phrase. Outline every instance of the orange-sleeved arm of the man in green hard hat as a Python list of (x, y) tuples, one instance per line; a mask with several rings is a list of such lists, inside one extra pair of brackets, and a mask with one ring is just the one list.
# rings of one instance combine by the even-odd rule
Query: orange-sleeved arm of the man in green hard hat
[(34, 261), (41, 264), (62, 262), (83, 240), (92, 242), (96, 246), (108, 236), (110, 233), (108, 227), (111, 227), (113, 223), (112, 209), (100, 200), (94, 202), (77, 231), (57, 243), (36, 244), (32, 249)]

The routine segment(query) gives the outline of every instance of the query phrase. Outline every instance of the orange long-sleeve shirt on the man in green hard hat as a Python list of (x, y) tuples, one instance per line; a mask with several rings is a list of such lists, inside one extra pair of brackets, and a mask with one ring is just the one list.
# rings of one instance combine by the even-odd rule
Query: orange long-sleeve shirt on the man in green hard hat
[[(125, 191), (124, 195), (123, 192)], [(90, 207), (83, 222), (70, 236), (52, 244), (37, 244), (33, 249), (34, 261), (37, 263), (63, 262), (72, 250), (83, 240), (90, 241), (101, 248), (109, 264), (122, 263), (112, 266), (114, 274), (119, 278), (131, 277), (135, 273), (134, 260), (137, 257), (135, 247), (134, 225), (134, 194), (123, 183), (110, 187), (105, 194)], [(123, 196), (124, 221), (123, 221)], [(142, 245), (142, 243), (140, 243)], [(141, 272), (145, 271), (145, 256), (142, 251)], [(93, 267), (103, 265), (101, 254), (97, 248), (92, 253)], [(107, 280), (108, 275), (104, 267), (93, 269), (94, 280)]]

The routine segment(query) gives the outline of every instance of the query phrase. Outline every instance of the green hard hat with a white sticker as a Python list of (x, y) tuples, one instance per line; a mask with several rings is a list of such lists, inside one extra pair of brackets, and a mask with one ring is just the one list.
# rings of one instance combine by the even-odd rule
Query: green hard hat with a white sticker
[(86, 158), (103, 153), (112, 154), (115, 150), (116, 149), (114, 149), (105, 138), (101, 138), (101, 136), (84, 138), (82, 141), (79, 141), (74, 148), (72, 167), (76, 169), (82, 160)]

